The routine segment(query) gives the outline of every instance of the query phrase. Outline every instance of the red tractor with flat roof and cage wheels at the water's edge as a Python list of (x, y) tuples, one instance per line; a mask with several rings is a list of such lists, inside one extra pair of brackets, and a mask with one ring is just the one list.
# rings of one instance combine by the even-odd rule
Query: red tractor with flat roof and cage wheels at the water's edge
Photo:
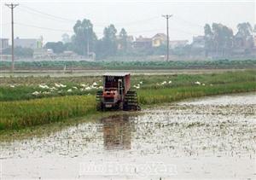
[(103, 90), (97, 91), (97, 110), (139, 110), (137, 92), (130, 90), (130, 73), (105, 73)]

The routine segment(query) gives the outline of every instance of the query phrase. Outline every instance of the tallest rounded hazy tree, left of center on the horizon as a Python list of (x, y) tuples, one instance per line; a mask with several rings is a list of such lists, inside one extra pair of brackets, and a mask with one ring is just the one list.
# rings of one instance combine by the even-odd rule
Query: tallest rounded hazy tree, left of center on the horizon
[(73, 50), (79, 55), (87, 55), (88, 52), (95, 50), (96, 33), (90, 20), (78, 20), (73, 26), (72, 37)]

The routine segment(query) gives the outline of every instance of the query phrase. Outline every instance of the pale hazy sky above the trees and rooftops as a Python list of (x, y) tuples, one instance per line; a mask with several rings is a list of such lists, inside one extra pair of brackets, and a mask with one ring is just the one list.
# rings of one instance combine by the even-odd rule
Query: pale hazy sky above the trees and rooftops
[(118, 31), (124, 27), (129, 35), (152, 37), (166, 33), (163, 14), (170, 14), (170, 40), (189, 39), (203, 34), (203, 26), (223, 23), (236, 32), (236, 25), (255, 24), (255, 2), (251, 1), (1, 1), (1, 38), (10, 38), (10, 9), (4, 3), (20, 3), (15, 8), (15, 37), (61, 40), (73, 34), (76, 20), (89, 19), (96, 35), (102, 37), (104, 26), (113, 23)]

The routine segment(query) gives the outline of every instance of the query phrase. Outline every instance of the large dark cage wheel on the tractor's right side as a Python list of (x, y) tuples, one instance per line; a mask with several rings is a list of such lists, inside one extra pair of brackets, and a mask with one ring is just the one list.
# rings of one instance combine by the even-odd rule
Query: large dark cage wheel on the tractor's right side
[(138, 105), (136, 91), (133, 91), (133, 90), (127, 91), (127, 93), (125, 95), (124, 109), (126, 111), (130, 111), (130, 110), (139, 111), (141, 109)]

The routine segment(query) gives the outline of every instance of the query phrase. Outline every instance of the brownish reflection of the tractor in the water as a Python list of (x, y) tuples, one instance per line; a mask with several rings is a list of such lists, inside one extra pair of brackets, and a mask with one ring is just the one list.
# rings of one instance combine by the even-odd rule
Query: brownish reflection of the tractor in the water
[(131, 122), (129, 116), (118, 115), (104, 118), (102, 124), (105, 149), (131, 149)]

